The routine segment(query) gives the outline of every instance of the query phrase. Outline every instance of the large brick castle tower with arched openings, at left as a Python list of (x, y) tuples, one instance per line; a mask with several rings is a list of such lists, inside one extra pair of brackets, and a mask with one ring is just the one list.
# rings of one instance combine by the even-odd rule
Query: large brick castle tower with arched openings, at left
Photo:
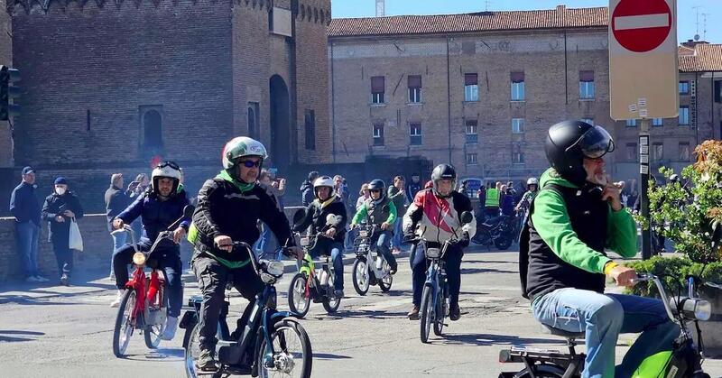
[(259, 138), (281, 171), (330, 155), (329, 0), (16, 0), (7, 9), (23, 75), (14, 182), (28, 164), (48, 192), (64, 175), (97, 211), (110, 173), (149, 172), (156, 155), (179, 161), (199, 189), (236, 135)]

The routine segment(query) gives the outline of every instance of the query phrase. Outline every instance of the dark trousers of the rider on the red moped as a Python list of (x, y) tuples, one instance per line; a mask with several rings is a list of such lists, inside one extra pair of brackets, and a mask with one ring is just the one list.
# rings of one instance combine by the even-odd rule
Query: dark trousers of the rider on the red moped
[[(151, 242), (148, 239), (141, 239), (138, 247), (141, 251), (147, 252), (151, 249)], [(183, 306), (183, 283), (180, 276), (183, 274), (182, 263), (180, 263), (180, 248), (177, 244), (170, 247), (168, 244), (159, 245), (153, 251), (153, 255), (149, 256), (148, 263), (157, 263), (159, 269), (165, 278), (166, 290), (168, 292), (168, 316), (178, 318), (180, 316), (180, 308)], [(127, 244), (113, 253), (113, 271), (116, 272), (116, 287), (124, 289), (125, 283), (128, 281), (129, 263), (133, 263), (133, 254), (135, 250), (133, 245)], [(152, 262), (153, 260), (153, 262)]]

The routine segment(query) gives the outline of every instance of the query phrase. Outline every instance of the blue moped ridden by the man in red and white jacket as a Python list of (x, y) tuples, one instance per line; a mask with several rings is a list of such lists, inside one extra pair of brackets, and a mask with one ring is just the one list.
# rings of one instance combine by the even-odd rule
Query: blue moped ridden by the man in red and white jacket
[[(473, 218), (468, 211), (461, 213), (461, 226), (470, 223)], [(458, 228), (461, 228), (461, 226)], [(424, 254), (431, 262), (426, 271), (426, 281), (421, 293), (419, 313), (421, 343), (424, 344), (429, 343), (431, 324), (433, 324), (434, 335), (436, 336), (441, 336), (444, 326), (448, 326), (444, 324), (444, 318), (449, 316), (449, 287), (446, 271), (444, 270), (446, 262), (443, 257), (449, 246), (458, 242), (457, 231), (458, 229), (454, 230), (452, 238), (445, 241), (441, 248), (430, 248), (425, 239), (416, 241), (424, 244)], [(416, 243), (412, 246), (412, 255), (416, 253), (415, 248)]]

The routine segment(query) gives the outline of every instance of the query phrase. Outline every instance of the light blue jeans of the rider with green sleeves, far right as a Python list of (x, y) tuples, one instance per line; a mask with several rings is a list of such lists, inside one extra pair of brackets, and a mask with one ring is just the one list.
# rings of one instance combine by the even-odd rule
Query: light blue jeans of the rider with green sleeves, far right
[[(582, 377), (628, 377), (644, 358), (671, 350), (680, 327), (671, 322), (661, 300), (565, 288), (533, 301), (534, 318), (569, 332), (586, 332), (587, 360)], [(642, 333), (615, 368), (620, 333)]]

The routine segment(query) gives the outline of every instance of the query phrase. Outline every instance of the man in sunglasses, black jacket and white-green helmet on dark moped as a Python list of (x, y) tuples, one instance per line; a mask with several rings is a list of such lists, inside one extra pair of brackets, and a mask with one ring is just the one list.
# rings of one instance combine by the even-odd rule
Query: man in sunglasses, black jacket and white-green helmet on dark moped
[[(199, 191), (189, 241), (195, 247), (191, 265), (203, 295), (196, 361), (202, 371), (218, 368), (216, 330), (227, 284), (249, 300), (238, 329), (245, 327), (255, 295), (264, 289), (250, 263), (252, 252), (234, 248), (233, 242), (253, 245), (260, 235), (256, 226), (260, 219), (271, 228), (279, 244), (294, 245), (288, 219), (266, 189), (257, 184), (265, 158), (263, 144), (245, 136), (236, 137), (223, 149), (223, 170)], [(298, 254), (300, 250), (292, 248), (292, 252)]]

